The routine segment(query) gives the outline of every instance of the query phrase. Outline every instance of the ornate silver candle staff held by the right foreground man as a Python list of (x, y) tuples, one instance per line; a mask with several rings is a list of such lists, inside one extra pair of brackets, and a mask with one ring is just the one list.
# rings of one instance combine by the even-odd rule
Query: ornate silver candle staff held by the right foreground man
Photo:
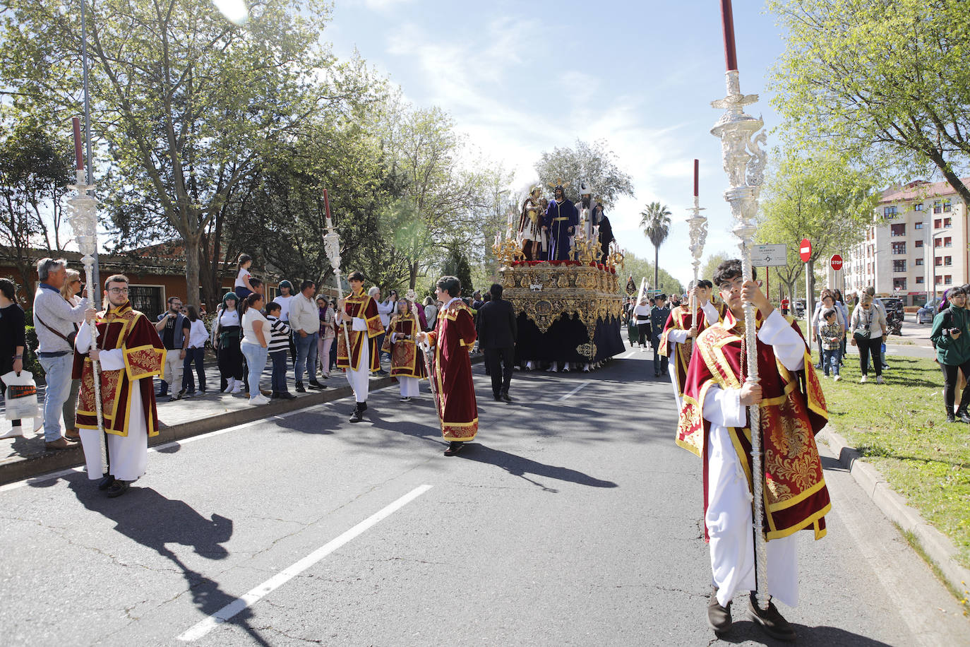
[[(757, 94), (741, 94), (741, 82), (737, 70), (728, 70), (726, 75), (727, 97), (711, 102), (711, 107), (725, 113), (711, 129), (711, 134), (721, 138), (721, 155), (730, 188), (724, 196), (730, 205), (736, 224), (733, 233), (740, 241), (741, 272), (745, 281), (752, 280), (751, 245), (754, 243), (758, 225), (755, 215), (758, 212), (758, 196), (764, 181), (764, 165), (767, 154), (760, 147), (767, 141), (761, 128), (764, 122), (744, 113), (746, 106), (758, 102)], [(761, 131), (761, 132), (759, 132)], [(757, 134), (756, 134), (757, 133)], [(755, 322), (755, 305), (744, 304), (744, 333), (748, 349), (748, 377), (746, 383), (758, 384), (758, 331)], [(764, 469), (761, 467), (761, 424), (760, 405), (748, 407), (751, 423), (751, 460), (752, 494), (754, 512), (752, 521), (755, 533), (755, 567), (758, 579), (758, 604), (761, 609), (768, 608), (768, 555), (765, 546), (763, 515)]]

